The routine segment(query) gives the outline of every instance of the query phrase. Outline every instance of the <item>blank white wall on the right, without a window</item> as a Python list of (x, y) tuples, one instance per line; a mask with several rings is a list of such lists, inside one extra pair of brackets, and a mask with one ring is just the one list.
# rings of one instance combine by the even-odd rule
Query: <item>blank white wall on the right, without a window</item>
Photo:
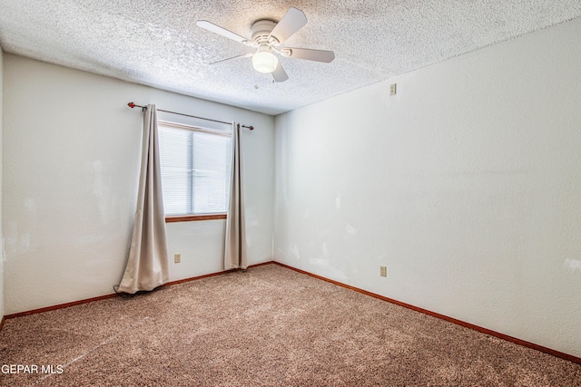
[(278, 116), (275, 259), (580, 356), (579, 36), (576, 19)]

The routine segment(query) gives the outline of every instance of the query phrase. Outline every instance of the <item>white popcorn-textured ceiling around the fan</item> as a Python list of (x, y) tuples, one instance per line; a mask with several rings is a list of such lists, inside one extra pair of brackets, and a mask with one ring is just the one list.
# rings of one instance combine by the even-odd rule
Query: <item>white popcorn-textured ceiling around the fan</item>
[[(332, 63), (281, 58), (273, 83), (251, 47), (258, 19), (294, 6), (309, 23), (285, 46), (332, 50)], [(277, 114), (581, 15), (579, 0), (0, 0), (0, 45), (48, 63)], [(136, 101), (137, 102), (137, 101)]]

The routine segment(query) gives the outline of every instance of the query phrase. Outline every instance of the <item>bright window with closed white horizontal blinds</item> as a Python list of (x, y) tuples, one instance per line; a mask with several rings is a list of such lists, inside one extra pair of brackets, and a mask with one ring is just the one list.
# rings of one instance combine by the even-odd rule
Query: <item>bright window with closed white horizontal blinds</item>
[(158, 128), (165, 215), (225, 214), (231, 126), (212, 129), (158, 121)]

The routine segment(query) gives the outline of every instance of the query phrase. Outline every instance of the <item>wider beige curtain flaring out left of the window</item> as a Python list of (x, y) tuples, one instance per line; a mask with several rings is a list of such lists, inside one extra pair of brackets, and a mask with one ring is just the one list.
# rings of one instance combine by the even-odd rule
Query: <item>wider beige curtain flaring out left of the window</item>
[(133, 295), (169, 280), (159, 153), (157, 111), (150, 104), (143, 111), (142, 167), (135, 225), (119, 292)]

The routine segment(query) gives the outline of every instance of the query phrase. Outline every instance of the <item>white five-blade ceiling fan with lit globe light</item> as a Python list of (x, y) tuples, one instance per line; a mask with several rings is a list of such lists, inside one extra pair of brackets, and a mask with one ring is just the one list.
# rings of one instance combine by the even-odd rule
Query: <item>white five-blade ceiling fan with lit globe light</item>
[(305, 24), (307, 24), (307, 17), (297, 8), (291, 7), (287, 13), (282, 16), (279, 23), (268, 19), (257, 20), (252, 24), (251, 39), (234, 34), (219, 25), (212, 24), (207, 20), (198, 20), (196, 24), (215, 34), (221, 34), (231, 40), (246, 44), (256, 48), (254, 53), (244, 53), (242, 55), (234, 56), (222, 61), (210, 63), (217, 64), (231, 59), (237, 58), (252, 58), (252, 66), (257, 72), (272, 73), (272, 78), (275, 82), (284, 82), (289, 79), (289, 75), (284, 71), (279, 62), (279, 59), (274, 53), (279, 53), (282, 56), (297, 59), (306, 59), (309, 61), (330, 63), (335, 59), (335, 53), (325, 50), (311, 50), (308, 48), (291, 48), (283, 47), (283, 44), (291, 35), (295, 34)]

